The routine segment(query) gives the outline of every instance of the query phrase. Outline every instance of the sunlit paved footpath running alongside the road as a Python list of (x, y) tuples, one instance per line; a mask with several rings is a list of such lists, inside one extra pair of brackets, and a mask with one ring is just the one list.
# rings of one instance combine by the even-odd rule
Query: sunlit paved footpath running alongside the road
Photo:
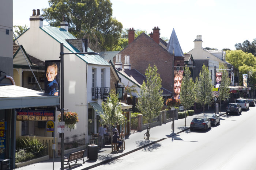
[[(221, 111), (218, 116), (225, 114), (226, 106), (222, 106)], [(214, 110), (206, 110), (205, 113), (214, 113)], [(98, 159), (97, 160), (89, 160), (87, 159), (87, 150), (84, 152), (84, 161), (78, 161), (77, 163), (71, 163), (70, 170), (86, 170), (91, 169), (93, 167), (97, 167), (104, 163), (113, 161), (114, 159), (123, 157), (132, 152), (138, 151), (144, 147), (150, 146), (151, 144), (157, 143), (161, 140), (170, 138), (179, 134), (181, 132), (187, 131), (190, 127), (190, 122), (195, 116), (203, 116), (203, 112), (197, 113), (193, 116), (188, 116), (186, 118), (186, 126), (185, 119), (174, 120), (174, 133), (172, 132), (171, 125), (172, 121), (166, 124), (158, 125), (156, 127), (150, 128), (150, 138), (149, 140), (145, 140), (143, 138), (144, 134), (147, 130), (138, 131), (134, 134), (125, 136), (125, 150), (112, 152), (111, 144), (105, 145), (101, 150), (98, 150)], [(69, 154), (64, 155), (68, 157)], [(15, 170), (50, 170), (53, 169), (53, 158), (50, 158), (47, 161), (42, 161), (38, 163), (34, 163), (31, 165), (23, 166), (20, 168), (16, 168)], [(60, 157), (54, 159), (54, 170), (60, 169)], [(64, 169), (69, 169), (68, 165), (64, 165)]]

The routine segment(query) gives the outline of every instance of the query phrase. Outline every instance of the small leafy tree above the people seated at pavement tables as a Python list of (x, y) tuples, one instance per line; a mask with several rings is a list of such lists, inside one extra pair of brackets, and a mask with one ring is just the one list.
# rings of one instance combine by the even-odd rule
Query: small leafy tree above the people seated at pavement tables
[[(127, 121), (126, 117), (122, 114), (122, 108), (119, 104), (118, 94), (115, 90), (112, 89), (110, 92), (110, 98), (108, 97), (105, 102), (102, 102), (101, 119), (102, 124), (109, 126), (109, 129), (112, 125), (124, 125)], [(113, 134), (111, 133), (111, 137)]]

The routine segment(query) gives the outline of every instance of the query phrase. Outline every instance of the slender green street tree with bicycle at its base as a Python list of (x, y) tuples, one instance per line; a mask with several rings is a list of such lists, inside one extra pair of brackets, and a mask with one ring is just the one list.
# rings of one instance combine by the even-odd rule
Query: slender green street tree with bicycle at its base
[(152, 119), (159, 115), (163, 107), (163, 90), (161, 90), (162, 80), (160, 74), (157, 73), (157, 67), (155, 65), (154, 67), (148, 65), (145, 76), (146, 82), (143, 81), (136, 106), (143, 116), (148, 118), (150, 128)]

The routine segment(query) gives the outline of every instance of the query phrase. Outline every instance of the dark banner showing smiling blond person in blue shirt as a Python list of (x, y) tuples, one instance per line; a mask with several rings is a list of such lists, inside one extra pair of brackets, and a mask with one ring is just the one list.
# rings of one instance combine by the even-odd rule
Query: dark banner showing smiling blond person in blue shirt
[(60, 60), (45, 61), (45, 93), (60, 96)]

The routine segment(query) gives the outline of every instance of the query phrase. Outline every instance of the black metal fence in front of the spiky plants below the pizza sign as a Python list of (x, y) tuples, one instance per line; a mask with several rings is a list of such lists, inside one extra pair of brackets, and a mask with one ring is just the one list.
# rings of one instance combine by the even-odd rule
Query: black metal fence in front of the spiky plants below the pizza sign
[(48, 155), (48, 144), (39, 144), (27, 148), (19, 148), (15, 151), (15, 163), (29, 161)]

